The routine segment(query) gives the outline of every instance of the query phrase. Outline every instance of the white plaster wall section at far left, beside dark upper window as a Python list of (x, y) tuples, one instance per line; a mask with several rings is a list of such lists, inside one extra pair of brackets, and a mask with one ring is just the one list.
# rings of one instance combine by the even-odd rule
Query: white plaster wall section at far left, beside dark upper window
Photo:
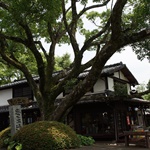
[(8, 105), (7, 100), (12, 98), (12, 89), (0, 90), (0, 106)]

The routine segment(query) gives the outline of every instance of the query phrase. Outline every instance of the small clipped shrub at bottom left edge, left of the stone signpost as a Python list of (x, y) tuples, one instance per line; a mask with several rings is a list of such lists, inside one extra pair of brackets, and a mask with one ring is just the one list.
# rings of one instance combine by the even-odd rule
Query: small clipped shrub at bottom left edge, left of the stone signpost
[(9, 141), (10, 136), (10, 127), (0, 132), (0, 148), (7, 147), (7, 141)]

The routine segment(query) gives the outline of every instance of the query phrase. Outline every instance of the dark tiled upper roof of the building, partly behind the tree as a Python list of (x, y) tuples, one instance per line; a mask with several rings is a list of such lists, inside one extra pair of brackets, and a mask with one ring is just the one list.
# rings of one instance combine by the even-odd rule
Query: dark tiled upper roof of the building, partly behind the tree
[[(132, 73), (129, 71), (126, 65), (123, 64), (122, 62), (105, 66), (104, 69), (102, 70), (101, 76), (105, 76), (105, 75), (109, 76), (117, 71), (122, 71), (125, 77), (127, 77), (127, 79), (130, 81), (130, 83), (135, 84), (135, 85), (138, 84), (138, 81), (135, 79), (135, 77), (132, 75)], [(59, 71), (55, 72), (53, 76), (55, 76), (58, 73)], [(88, 75), (88, 73), (89, 73), (89, 70), (86, 70), (83, 73), (80, 73), (78, 78), (84, 78)], [(39, 77), (35, 76), (34, 79), (38, 81)], [(26, 79), (17, 80), (8, 84), (1, 85), (0, 89), (11, 88), (15, 85), (24, 84), (24, 83), (27, 83)]]

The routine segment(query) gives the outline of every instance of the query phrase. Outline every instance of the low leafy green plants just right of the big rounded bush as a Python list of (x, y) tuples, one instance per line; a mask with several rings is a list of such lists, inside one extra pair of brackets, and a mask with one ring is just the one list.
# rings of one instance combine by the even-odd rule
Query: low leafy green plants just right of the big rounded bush
[(95, 140), (92, 137), (86, 137), (78, 134), (78, 138), (80, 139), (81, 145), (83, 146), (90, 146), (95, 143)]

